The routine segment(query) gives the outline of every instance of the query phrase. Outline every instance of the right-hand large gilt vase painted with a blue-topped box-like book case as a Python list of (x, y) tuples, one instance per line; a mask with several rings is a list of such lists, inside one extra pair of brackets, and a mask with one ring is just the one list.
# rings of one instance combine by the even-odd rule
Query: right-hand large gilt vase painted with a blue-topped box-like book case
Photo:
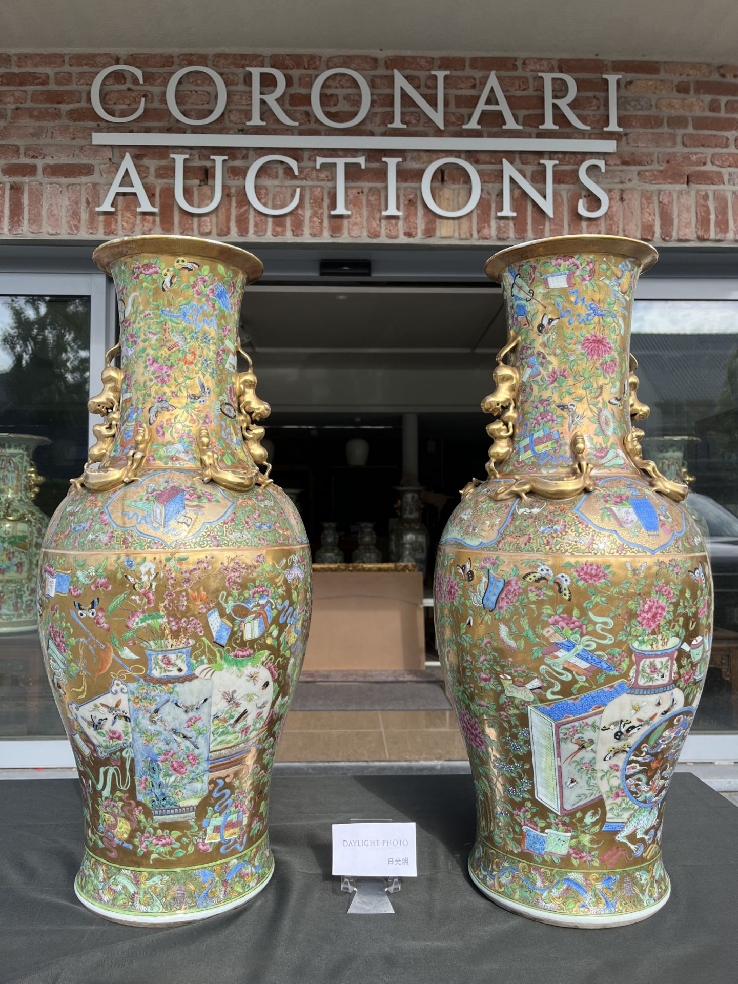
[(544, 922), (616, 926), (669, 896), (664, 798), (709, 659), (687, 488), (644, 458), (630, 323), (656, 251), (614, 236), (498, 253), (509, 335), (488, 478), (438, 552), (436, 634), (477, 806), (474, 883)]

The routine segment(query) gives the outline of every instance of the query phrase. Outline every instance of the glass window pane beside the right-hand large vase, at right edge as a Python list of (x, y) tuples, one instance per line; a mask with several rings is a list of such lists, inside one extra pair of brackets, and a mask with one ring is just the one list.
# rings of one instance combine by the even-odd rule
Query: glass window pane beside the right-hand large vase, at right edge
[(738, 729), (738, 301), (637, 301), (632, 350), (650, 406), (644, 449), (687, 480), (715, 585), (696, 731)]

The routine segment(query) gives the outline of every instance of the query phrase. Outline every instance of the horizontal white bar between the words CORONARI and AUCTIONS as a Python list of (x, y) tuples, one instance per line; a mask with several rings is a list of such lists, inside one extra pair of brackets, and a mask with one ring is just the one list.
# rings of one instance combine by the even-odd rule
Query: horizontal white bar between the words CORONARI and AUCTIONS
[(614, 154), (614, 140), (538, 140), (536, 137), (276, 137), (229, 133), (93, 133), (106, 147), (253, 147), (268, 150), (530, 151)]

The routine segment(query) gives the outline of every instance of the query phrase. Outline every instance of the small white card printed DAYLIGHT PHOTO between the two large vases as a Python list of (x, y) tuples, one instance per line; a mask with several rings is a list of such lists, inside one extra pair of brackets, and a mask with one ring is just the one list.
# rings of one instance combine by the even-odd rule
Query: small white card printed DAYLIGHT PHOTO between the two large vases
[(414, 824), (334, 824), (334, 875), (415, 878)]

